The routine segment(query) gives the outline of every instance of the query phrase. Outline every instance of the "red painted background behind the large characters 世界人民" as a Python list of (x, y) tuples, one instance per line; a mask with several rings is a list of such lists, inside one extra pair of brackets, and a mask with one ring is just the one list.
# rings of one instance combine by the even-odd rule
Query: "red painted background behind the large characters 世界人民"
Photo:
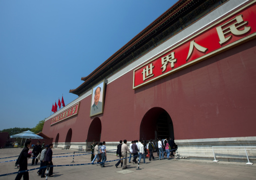
[[(230, 37), (230, 39), (227, 40), (225, 43), (219, 43), (220, 42), (219, 36), (221, 35), (221, 33), (218, 34), (216, 28), (224, 25), (225, 23), (230, 22), (227, 25), (222, 27), (223, 32), (230, 30), (230, 28), (228, 27), (230, 25), (237, 24), (236, 17), (238, 16), (241, 17), (241, 19), (245, 24), (237, 28), (237, 30), (239, 30), (239, 32), (243, 32), (244, 29), (246, 28), (247, 29), (244, 31), (244, 33), (242, 33), (242, 35), (234, 35), (232, 34), (233, 31), (231, 31), (225, 35), (225, 38)], [(244, 10), (234, 14), (230, 18), (227, 18), (216, 25), (212, 25), (212, 27), (207, 31), (202, 30), (201, 32), (199, 32), (199, 35), (197, 35), (196, 37), (194, 38), (191, 37), (184, 40), (177, 47), (175, 48), (172, 47), (167, 53), (162, 54), (160, 57), (155, 58), (152, 61), (140, 67), (139, 69), (136, 69), (134, 72), (134, 87), (137, 88), (143, 83), (147, 83), (149, 81), (158, 79), (159, 76), (174, 72), (178, 67), (188, 66), (189, 63), (196, 62), (198, 58), (204, 58), (208, 56), (208, 54), (210, 53), (217, 53), (218, 49), (228, 47), (228, 45), (236, 41), (239, 41), (245, 38), (246, 36), (252, 35), (253, 33), (256, 32), (256, 22), (254, 21), (255, 17), (256, 17), (256, 4), (245, 8)], [(237, 24), (236, 27), (238, 25), (241, 25), (243, 22)], [(224, 31), (225, 28), (227, 28), (227, 30)], [(193, 47), (193, 52), (190, 54), (189, 58), (187, 59), (190, 43), (193, 41), (195, 41), (195, 43), (197, 43), (199, 46), (207, 48), (207, 50), (205, 52), (201, 52), (201, 51), (198, 51), (196, 47)], [(162, 67), (163, 64), (161, 59), (164, 57), (168, 59), (167, 55), (171, 53), (174, 53), (172, 57), (173, 59), (175, 59), (175, 62), (173, 62), (173, 67), (171, 67), (171, 63), (168, 62), (168, 64), (166, 65), (166, 69), (164, 69)], [(156, 57), (159, 55), (156, 55)], [(144, 79), (146, 77), (145, 75), (145, 71), (147, 71), (146, 68), (149, 67), (150, 64), (152, 64), (152, 67), (153, 67), (152, 76), (147, 79)]]

